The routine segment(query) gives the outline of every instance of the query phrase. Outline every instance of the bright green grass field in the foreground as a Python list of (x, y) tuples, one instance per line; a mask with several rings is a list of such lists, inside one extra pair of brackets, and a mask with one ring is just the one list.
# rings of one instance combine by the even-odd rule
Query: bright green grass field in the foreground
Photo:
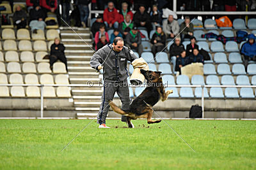
[(256, 122), (134, 120), (0, 120), (0, 169), (256, 169)]

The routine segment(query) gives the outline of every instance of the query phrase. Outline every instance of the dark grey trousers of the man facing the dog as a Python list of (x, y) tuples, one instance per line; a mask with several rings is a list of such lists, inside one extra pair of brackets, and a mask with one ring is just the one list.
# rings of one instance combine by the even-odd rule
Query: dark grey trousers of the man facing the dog
[[(129, 110), (131, 100), (129, 97), (129, 83), (127, 79), (121, 82), (111, 83), (104, 82), (104, 90), (102, 93), (102, 103), (100, 104), (100, 110), (97, 117), (98, 124), (106, 124), (106, 118), (109, 110), (109, 100), (113, 100), (115, 92), (122, 101), (122, 110)], [(125, 121), (126, 117), (122, 116), (122, 121)]]

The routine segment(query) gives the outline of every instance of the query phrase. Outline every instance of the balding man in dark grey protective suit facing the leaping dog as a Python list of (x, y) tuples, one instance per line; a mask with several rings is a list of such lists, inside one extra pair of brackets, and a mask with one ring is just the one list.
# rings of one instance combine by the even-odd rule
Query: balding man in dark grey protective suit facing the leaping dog
[[(112, 50), (113, 49), (113, 50)], [(124, 46), (124, 39), (116, 37), (112, 44), (108, 44), (95, 52), (91, 58), (90, 66), (99, 71), (103, 69), (103, 93), (100, 104), (97, 123), (99, 128), (109, 128), (106, 126), (108, 116), (109, 101), (118, 94), (122, 101), (122, 110), (128, 111), (131, 100), (129, 98), (129, 83), (127, 77), (127, 61), (138, 59), (132, 50)], [(102, 64), (105, 62), (104, 66)], [(122, 116), (122, 122), (127, 122), (127, 118)]]

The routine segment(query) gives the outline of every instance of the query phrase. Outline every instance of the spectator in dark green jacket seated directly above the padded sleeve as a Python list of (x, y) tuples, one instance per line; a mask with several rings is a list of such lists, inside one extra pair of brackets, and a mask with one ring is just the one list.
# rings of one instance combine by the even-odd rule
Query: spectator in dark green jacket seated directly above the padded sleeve
[(136, 50), (139, 55), (141, 55), (143, 46), (141, 45), (141, 36), (137, 27), (133, 27), (132, 30), (127, 34), (125, 38), (125, 45), (130, 46), (132, 50)]

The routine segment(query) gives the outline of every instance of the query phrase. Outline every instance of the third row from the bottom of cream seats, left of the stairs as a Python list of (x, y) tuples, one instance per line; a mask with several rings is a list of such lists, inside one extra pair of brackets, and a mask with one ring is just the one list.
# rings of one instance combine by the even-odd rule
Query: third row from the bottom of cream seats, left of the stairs
[[(19, 62), (8, 62), (8, 73), (21, 73)], [(23, 73), (67, 73), (65, 64), (63, 62), (55, 62), (52, 71), (48, 62), (40, 62), (37, 65), (34, 62), (24, 62), (22, 64)], [(5, 64), (0, 62), (0, 73), (6, 73)]]

